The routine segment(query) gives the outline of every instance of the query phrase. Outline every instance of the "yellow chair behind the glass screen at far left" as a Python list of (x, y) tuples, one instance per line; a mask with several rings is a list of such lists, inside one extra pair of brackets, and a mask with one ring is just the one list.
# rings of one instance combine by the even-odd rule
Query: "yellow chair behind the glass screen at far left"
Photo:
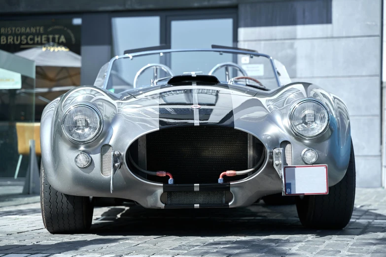
[(18, 122), (16, 123), (16, 133), (17, 133), (17, 150), (19, 152), (19, 161), (17, 162), (15, 179), (19, 174), (20, 163), (22, 161), (23, 155), (30, 154), (30, 140), (35, 140), (35, 154), (36, 156), (41, 156), (40, 150), (40, 123), (27, 123), (27, 122)]

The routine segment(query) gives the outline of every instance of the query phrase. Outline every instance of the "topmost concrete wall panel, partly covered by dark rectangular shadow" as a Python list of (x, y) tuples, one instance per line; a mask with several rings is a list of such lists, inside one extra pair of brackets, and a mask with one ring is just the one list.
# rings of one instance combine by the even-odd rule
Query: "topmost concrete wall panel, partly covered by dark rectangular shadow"
[[(288, 12), (285, 6), (288, 5), (288, 3), (283, 2), (271, 1), (264, 4), (240, 4), (239, 40), (351, 37), (380, 34), (381, 0), (333, 0), (331, 9), (329, 9), (328, 4), (317, 4), (317, 2), (323, 1), (313, 1), (313, 4), (319, 8), (316, 12), (316, 18), (312, 19), (311, 22), (308, 23), (303, 22), (303, 20), (300, 19), (297, 24), (287, 23), (284, 25), (267, 27), (259, 26), (258, 22), (256, 26), (246, 26), (243, 22), (247, 17), (255, 17), (255, 9), (262, 10), (264, 5), (277, 6), (277, 10), (281, 10), (285, 17), (286, 12)], [(301, 6), (304, 6), (304, 2), (307, 1), (297, 2), (300, 4), (303, 3)], [(332, 12), (332, 19), (330, 22), (328, 22), (328, 19), (326, 18), (329, 16), (329, 12)], [(325, 19), (319, 17), (323, 14)], [(275, 24), (277, 16), (266, 15), (264, 18), (272, 20), (271, 23)], [(256, 20), (262, 18), (256, 17), (254, 19)]]

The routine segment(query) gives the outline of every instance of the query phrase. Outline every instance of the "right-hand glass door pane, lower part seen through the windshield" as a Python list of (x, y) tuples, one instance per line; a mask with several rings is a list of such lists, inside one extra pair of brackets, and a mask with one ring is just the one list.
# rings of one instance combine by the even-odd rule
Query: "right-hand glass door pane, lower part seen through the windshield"
[[(201, 14), (199, 16), (169, 16), (167, 18), (167, 43), (172, 49), (211, 48), (211, 45), (237, 46), (236, 14)], [(202, 55), (202, 58), (200, 56)], [(231, 55), (213, 55), (205, 67), (199, 63), (208, 59), (208, 53), (172, 54), (169, 65), (175, 74), (196, 72), (208, 74), (210, 68), (224, 62), (234, 62)], [(225, 76), (224, 74), (216, 74)], [(223, 79), (220, 78), (219, 79)]]

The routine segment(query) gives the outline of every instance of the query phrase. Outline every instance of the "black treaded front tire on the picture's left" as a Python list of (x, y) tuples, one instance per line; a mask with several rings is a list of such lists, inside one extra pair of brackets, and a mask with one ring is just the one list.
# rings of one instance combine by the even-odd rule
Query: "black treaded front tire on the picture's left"
[(50, 233), (82, 232), (91, 227), (94, 206), (90, 197), (56, 191), (40, 165), (40, 207), (44, 227)]

